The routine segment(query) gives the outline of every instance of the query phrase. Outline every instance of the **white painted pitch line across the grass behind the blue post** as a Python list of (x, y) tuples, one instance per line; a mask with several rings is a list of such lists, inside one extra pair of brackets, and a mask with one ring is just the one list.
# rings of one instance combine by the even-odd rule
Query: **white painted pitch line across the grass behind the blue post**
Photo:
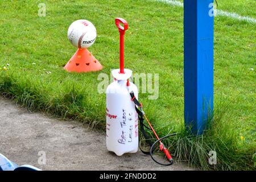
[[(179, 6), (179, 7), (184, 6), (183, 2), (175, 1), (175, 0), (155, 0), (155, 1), (163, 2), (163, 3), (167, 3), (169, 5), (174, 5), (174, 6)], [(230, 13), (228, 11), (223, 11), (223, 10), (218, 10), (217, 9), (216, 15), (217, 16), (226, 16), (226, 17), (229, 17), (229, 18), (237, 19), (237, 20), (240, 20), (240, 21), (246, 21), (246, 22), (249, 22), (249, 23), (256, 23), (256, 19), (254, 19), (254, 18), (251, 18), (249, 16), (242, 16), (242, 15), (239, 15), (237, 13)]]

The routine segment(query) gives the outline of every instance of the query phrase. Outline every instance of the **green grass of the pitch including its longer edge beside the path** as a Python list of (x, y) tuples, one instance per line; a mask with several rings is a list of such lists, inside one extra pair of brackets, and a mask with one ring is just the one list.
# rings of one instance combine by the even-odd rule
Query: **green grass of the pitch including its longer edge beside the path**
[[(134, 73), (158, 73), (158, 100), (140, 94), (148, 118), (168, 140), (177, 159), (201, 169), (255, 169), (256, 24), (218, 16), (214, 21), (214, 122), (199, 137), (188, 137), (182, 123), (183, 9), (152, 1), (41, 1), (0, 4), (0, 92), (30, 110), (105, 127), (105, 94), (97, 92), (99, 73), (118, 68), (119, 36), (114, 18), (129, 22), (125, 35), (125, 67)], [(218, 1), (219, 9), (255, 18), (251, 2)], [(255, 2), (254, 2), (255, 3)], [(244, 8), (238, 8), (238, 5)], [(101, 72), (67, 73), (63, 66), (76, 49), (67, 39), (68, 26), (88, 19), (97, 28), (90, 52), (104, 66)], [(32, 64), (35, 63), (35, 64)], [(253, 68), (252, 71), (250, 68)], [(49, 73), (51, 72), (51, 73)], [(223, 106), (224, 105), (224, 106)], [(240, 137), (245, 137), (241, 140)], [(176, 150), (175, 150), (176, 149)], [(218, 164), (208, 164), (216, 150)]]

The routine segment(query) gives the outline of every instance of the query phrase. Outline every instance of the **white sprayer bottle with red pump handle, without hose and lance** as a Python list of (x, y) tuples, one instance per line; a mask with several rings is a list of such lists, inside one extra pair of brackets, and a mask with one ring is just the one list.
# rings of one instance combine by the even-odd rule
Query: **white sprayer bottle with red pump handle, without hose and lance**
[(124, 69), (123, 37), (128, 23), (122, 18), (116, 18), (115, 25), (120, 33), (120, 69), (112, 71), (115, 81), (106, 89), (106, 147), (120, 156), (138, 151), (138, 114), (130, 96), (132, 90), (138, 99), (138, 88), (129, 82), (132, 71)]

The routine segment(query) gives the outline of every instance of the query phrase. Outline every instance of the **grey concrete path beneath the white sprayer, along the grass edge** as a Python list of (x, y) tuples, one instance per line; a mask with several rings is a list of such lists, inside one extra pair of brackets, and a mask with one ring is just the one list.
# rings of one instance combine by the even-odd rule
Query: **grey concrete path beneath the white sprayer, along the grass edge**
[[(44, 152), (46, 164), (41, 164), (39, 154)], [(43, 170), (191, 170), (181, 163), (159, 166), (141, 151), (118, 157), (106, 150), (104, 133), (80, 122), (30, 113), (2, 97), (0, 153), (18, 165)]]

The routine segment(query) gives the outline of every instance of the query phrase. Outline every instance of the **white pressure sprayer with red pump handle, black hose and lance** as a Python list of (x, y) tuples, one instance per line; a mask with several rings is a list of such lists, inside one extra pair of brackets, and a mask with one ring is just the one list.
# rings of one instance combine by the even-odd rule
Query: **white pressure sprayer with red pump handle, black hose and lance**
[[(121, 23), (123, 26), (121, 26)], [(106, 146), (109, 151), (113, 151), (117, 155), (137, 152), (139, 145), (139, 120), (141, 133), (150, 145), (149, 152), (145, 152), (142, 149), (141, 151), (144, 154), (150, 155), (156, 163), (169, 166), (173, 163), (173, 159), (168, 149), (162, 143), (162, 140), (175, 134), (159, 138), (150, 121), (148, 121), (142, 104), (138, 101), (137, 86), (133, 82), (129, 82), (132, 71), (124, 68), (124, 35), (128, 29), (128, 23), (125, 19), (116, 18), (115, 25), (118, 27), (120, 34), (120, 68), (112, 71), (114, 82), (106, 90)], [(149, 127), (144, 124), (144, 119), (146, 119)], [(154, 143), (151, 142), (144, 128), (154, 133), (156, 137)], [(157, 143), (159, 143), (160, 151), (163, 151), (166, 155), (168, 164), (160, 163), (153, 157)]]

